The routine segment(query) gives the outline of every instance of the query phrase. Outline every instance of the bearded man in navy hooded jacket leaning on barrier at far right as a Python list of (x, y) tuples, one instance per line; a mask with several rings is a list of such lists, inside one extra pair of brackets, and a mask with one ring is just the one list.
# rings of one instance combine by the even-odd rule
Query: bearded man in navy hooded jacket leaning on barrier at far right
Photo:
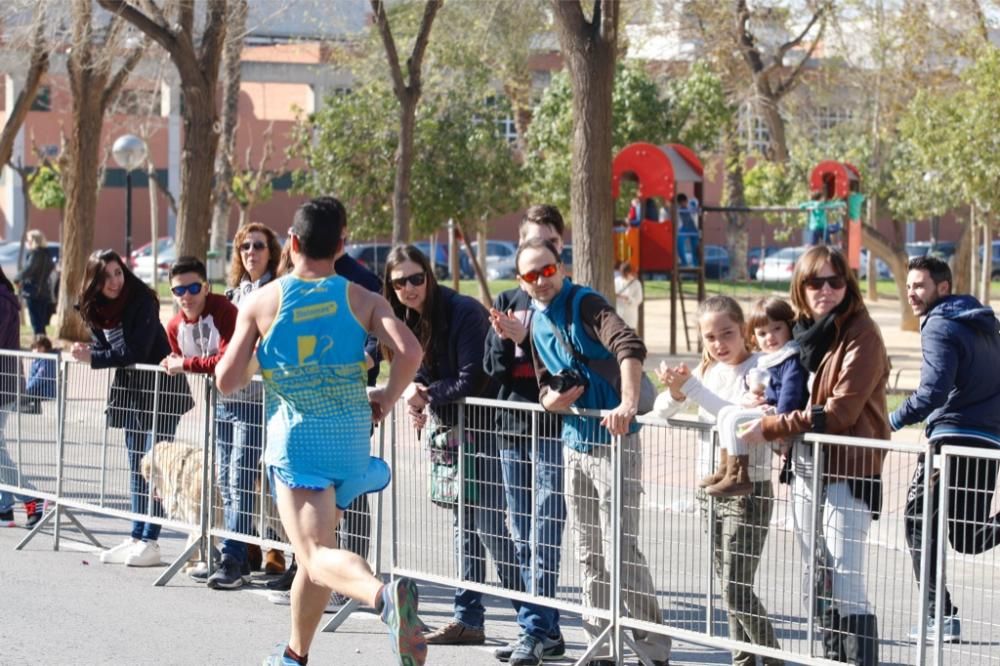
[[(923, 364), (920, 386), (889, 416), (893, 430), (926, 422), (925, 432), (934, 451), (944, 445), (1000, 447), (1000, 325), (993, 310), (971, 296), (951, 294), (948, 264), (932, 257), (910, 261), (906, 293), (913, 314), (923, 316), (920, 346)], [(990, 516), (996, 489), (996, 460), (955, 456), (950, 464), (948, 540), (960, 553), (978, 554), (1000, 543), (1000, 517)], [(906, 542), (913, 571), (920, 579), (923, 541), (924, 457), (917, 462), (906, 502)], [(938, 472), (932, 472), (931, 525), (928, 534), (930, 608), (936, 600), (938, 533)], [(942, 590), (942, 630), (945, 642), (960, 640), (958, 609), (948, 589)], [(933, 615), (927, 620), (928, 640), (934, 639)], [(919, 627), (911, 632), (918, 636)]]

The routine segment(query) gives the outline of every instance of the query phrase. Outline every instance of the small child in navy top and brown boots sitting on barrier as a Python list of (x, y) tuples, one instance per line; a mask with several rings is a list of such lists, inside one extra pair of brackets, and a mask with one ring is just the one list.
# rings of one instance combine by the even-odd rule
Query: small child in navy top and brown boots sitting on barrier
[(743, 406), (719, 412), (719, 469), (698, 485), (714, 497), (737, 497), (751, 490), (747, 472), (749, 446), (740, 441), (741, 426), (761, 413), (787, 414), (809, 402), (809, 373), (799, 361), (799, 345), (792, 339), (795, 312), (780, 298), (761, 298), (750, 309), (747, 337), (763, 355), (747, 373), (748, 392)]

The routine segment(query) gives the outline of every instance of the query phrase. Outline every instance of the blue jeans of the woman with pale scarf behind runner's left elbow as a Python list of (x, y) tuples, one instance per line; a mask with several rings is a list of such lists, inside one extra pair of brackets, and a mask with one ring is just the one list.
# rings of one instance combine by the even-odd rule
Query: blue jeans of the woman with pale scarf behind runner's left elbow
[[(254, 485), (260, 478), (262, 413), (262, 405), (250, 402), (220, 401), (215, 411), (216, 470), (223, 520), (226, 530), (237, 534), (255, 533)], [(247, 545), (236, 539), (223, 539), (222, 555), (245, 562)]]

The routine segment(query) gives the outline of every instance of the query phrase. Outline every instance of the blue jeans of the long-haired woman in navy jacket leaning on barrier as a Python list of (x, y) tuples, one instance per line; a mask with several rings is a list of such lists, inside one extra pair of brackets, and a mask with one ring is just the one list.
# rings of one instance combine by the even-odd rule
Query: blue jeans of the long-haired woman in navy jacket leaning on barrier
[[(455, 526), (455, 556), (460, 560), (462, 580), (473, 583), (486, 581), (486, 551), (496, 563), (500, 584), (508, 590), (524, 591), (519, 567), (517, 566), (514, 542), (507, 531), (506, 505), (500, 472), (500, 460), (496, 453), (487, 452), (475, 456), (475, 478), (477, 497), (465, 505), (465, 531), (458, 529), (458, 506), (452, 510)], [(520, 615), (521, 603), (511, 601)], [(483, 594), (466, 589), (455, 590), (455, 619), (471, 629), (482, 629), (486, 619)]]

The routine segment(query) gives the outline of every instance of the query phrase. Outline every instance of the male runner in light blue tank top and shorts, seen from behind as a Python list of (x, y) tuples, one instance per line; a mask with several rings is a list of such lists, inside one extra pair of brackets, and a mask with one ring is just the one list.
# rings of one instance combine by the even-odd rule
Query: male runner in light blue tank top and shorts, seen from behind
[[(385, 299), (335, 273), (343, 210), (313, 200), (295, 212), (288, 240), (295, 269), (252, 293), (240, 308), (216, 383), (224, 394), (244, 386), (260, 341), (256, 357), (268, 416), (264, 462), (299, 562), (291, 637), (283, 654), (265, 663), (307, 663), (333, 590), (380, 611), (397, 663), (413, 666), (427, 656), (416, 585), (405, 578), (383, 585), (364, 559), (338, 548), (334, 536), (354, 498), (388, 485), (388, 467), (369, 455), (370, 423), (392, 409), (421, 359), (417, 339)], [(366, 397), (368, 332), (393, 363), (386, 386)]]

